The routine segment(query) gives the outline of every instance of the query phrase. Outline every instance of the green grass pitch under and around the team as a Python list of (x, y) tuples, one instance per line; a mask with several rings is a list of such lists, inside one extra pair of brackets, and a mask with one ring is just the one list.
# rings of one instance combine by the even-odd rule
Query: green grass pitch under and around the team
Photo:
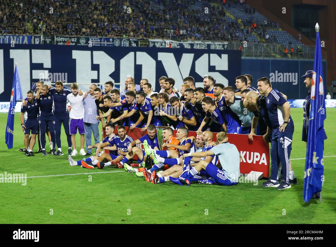
[[(291, 116), (295, 132), (290, 158), (304, 158), (302, 109), (291, 109)], [(324, 156), (336, 155), (335, 117), (336, 109), (327, 108)], [(7, 114), (1, 113), (0, 121), (0, 173), (26, 173), (31, 177), (26, 186), (0, 183), (0, 223), (336, 223), (336, 157), (326, 157), (324, 161), (322, 203), (304, 203), (304, 159), (292, 160), (298, 184), (284, 191), (261, 188), (260, 183), (231, 187), (152, 184), (123, 169), (69, 166), (67, 155), (26, 157), (17, 150), (24, 147), (19, 113), (15, 114), (14, 147), (7, 150)], [(61, 138), (63, 151), (67, 151), (64, 133)], [(60, 176), (34, 177), (46, 175)]]

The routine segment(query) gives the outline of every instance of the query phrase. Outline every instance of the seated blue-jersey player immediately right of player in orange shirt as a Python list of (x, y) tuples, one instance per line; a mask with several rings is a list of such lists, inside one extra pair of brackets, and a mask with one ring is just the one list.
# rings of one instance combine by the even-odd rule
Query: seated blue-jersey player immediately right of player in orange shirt
[[(170, 143), (164, 143), (162, 145), (162, 147), (167, 147), (167, 148), (176, 148), (176, 150), (178, 151), (178, 157), (176, 158), (172, 158), (172, 159), (164, 159), (161, 158), (160, 155), (158, 154), (158, 151), (156, 151), (156, 153), (154, 153), (154, 151), (151, 150), (151, 154), (153, 157), (153, 161), (154, 161), (154, 166), (150, 169), (150, 170), (143, 170), (143, 175), (146, 178), (146, 181), (150, 181), (151, 179), (151, 173), (153, 171), (156, 171), (162, 167), (165, 166), (165, 164), (171, 166), (174, 165), (180, 165), (182, 164), (182, 158), (180, 159), (179, 157), (181, 155), (183, 155), (184, 153), (190, 153), (190, 152), (195, 152), (195, 144), (191, 139), (186, 139), (188, 137), (189, 131), (187, 128), (185, 127), (180, 127), (177, 132), (176, 132), (176, 139), (179, 141), (178, 145), (173, 145)], [(145, 147), (145, 145), (143, 146), (144, 149), (150, 149), (150, 147)], [(159, 152), (160, 153), (160, 152)], [(158, 159), (157, 159), (158, 158)], [(160, 159), (161, 158), (161, 159)], [(163, 162), (164, 161), (164, 162)]]

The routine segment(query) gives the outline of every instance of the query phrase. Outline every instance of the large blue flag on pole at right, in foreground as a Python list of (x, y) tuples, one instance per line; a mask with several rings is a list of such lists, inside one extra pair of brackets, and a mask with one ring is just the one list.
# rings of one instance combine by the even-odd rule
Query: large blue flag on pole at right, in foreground
[(306, 165), (304, 168), (303, 199), (308, 202), (313, 193), (322, 191), (324, 120), (326, 106), (323, 87), (323, 68), (319, 26), (316, 25), (316, 46), (313, 78), (311, 84), (309, 127), (307, 140)]

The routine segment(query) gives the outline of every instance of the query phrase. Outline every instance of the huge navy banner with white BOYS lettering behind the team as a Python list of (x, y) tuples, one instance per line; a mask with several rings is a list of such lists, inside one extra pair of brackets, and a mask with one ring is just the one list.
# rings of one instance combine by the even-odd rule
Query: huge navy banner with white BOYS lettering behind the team
[[(216, 82), (225, 86), (234, 86), (236, 76), (241, 74), (241, 52), (237, 50), (190, 49), (181, 52), (178, 49), (131, 46), (18, 44), (11, 47), (10, 44), (0, 44), (0, 72), (3, 71), (2, 75), (0, 73), (0, 96), (3, 101), (10, 99), (10, 95), (3, 92), (11, 90), (11, 84), (4, 82), (12, 81), (13, 61), (19, 66), (24, 94), (34, 82), (41, 79), (52, 84), (59, 80), (60, 75), (66, 75), (66, 83), (78, 82), (82, 90), (87, 90), (91, 83), (110, 80), (121, 82), (124, 88), (123, 83), (130, 75), (136, 84), (142, 78), (148, 79), (156, 91), (160, 90), (158, 79), (163, 75), (174, 78), (175, 87), (180, 89), (183, 78), (189, 75), (195, 78), (196, 86), (202, 86), (205, 75), (213, 76)], [(116, 88), (119, 89), (118, 84)]]

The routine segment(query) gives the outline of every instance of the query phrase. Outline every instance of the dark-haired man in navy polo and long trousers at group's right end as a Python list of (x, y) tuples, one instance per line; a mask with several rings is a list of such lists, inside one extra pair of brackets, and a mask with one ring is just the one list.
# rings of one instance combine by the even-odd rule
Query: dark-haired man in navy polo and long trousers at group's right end
[[(266, 108), (272, 126), (271, 139), (271, 177), (262, 187), (277, 187), (278, 190), (289, 189), (289, 158), (292, 148), (294, 123), (290, 116), (290, 105), (284, 96), (272, 85), (267, 77), (258, 79), (258, 90), (266, 96)], [(283, 182), (277, 181), (278, 168), (282, 164)]]

